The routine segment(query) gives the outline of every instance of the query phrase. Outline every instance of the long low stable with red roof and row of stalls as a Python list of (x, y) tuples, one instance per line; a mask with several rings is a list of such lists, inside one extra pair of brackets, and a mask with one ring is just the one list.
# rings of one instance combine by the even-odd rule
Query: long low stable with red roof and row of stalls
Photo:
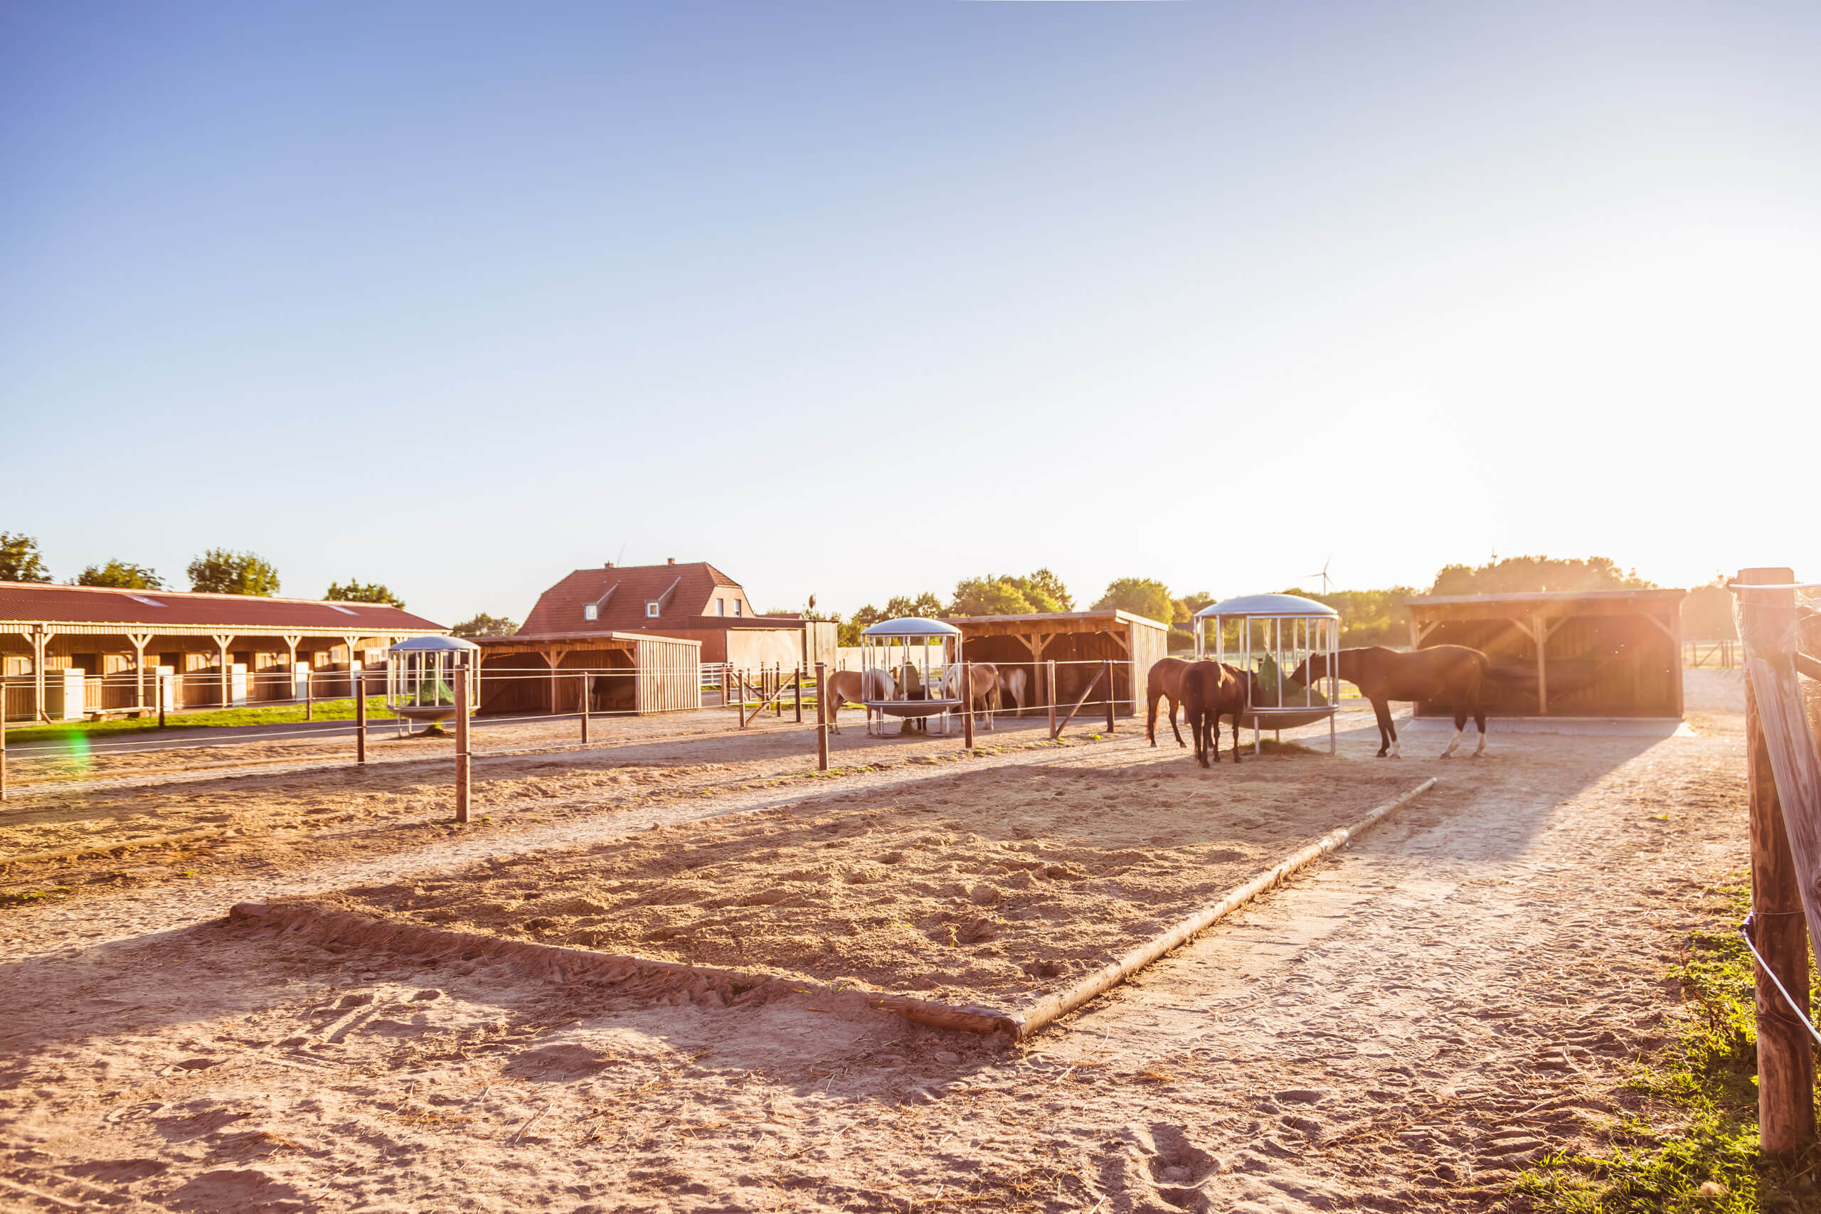
[(0, 582), (7, 721), (348, 695), (353, 672), (448, 628), (377, 602)]

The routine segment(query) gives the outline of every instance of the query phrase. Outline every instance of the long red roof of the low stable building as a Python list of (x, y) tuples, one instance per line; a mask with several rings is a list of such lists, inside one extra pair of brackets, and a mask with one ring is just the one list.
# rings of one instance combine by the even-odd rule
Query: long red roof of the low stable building
[(348, 632), (448, 632), (422, 615), (382, 602), (322, 602), (255, 595), (197, 595), (171, 590), (0, 582), (0, 621), (25, 624), (160, 624), (260, 628), (342, 635)]

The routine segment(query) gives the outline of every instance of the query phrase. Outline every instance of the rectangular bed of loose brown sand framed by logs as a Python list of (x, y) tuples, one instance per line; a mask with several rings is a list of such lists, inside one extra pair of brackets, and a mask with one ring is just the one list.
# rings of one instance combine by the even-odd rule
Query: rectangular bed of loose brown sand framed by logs
[[(1213, 775), (1213, 777), (1209, 777)], [(956, 772), (322, 899), (424, 925), (969, 1003), (1105, 963), (1413, 781), (1266, 757)]]

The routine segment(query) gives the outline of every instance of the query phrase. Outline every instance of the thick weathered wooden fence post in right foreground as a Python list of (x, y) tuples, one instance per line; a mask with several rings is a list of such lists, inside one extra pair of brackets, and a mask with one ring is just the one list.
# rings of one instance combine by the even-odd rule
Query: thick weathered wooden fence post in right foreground
[[(1796, 581), (1794, 570), (1739, 570), (1746, 586), (1786, 586)], [(1794, 590), (1739, 592), (1739, 613), (1748, 617), (1754, 606), (1794, 608)], [(1752, 635), (1750, 622), (1743, 630)], [(1803, 921), (1801, 885), (1796, 857), (1790, 854), (1790, 835), (1783, 823), (1783, 803), (1777, 797), (1777, 777), (1770, 766), (1770, 746), (1765, 741), (1765, 723), (1757, 695), (1752, 690), (1746, 644), (1745, 681), (1745, 744), (1746, 774), (1752, 797), (1752, 914), (1757, 952), (1783, 981), (1783, 988), (1801, 999), (1808, 1010), (1808, 928)], [(1770, 1156), (1792, 1156), (1814, 1141), (1814, 1052), (1806, 1030), (1788, 1014), (1775, 983), (1763, 966), (1754, 966), (1757, 983), (1757, 1134), (1759, 1147)]]

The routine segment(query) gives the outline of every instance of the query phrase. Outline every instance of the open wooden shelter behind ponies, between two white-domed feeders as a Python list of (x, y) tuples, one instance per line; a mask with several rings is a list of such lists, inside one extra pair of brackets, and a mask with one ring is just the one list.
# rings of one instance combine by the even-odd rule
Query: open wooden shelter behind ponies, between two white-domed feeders
[[(1029, 704), (1073, 703), (1094, 677), (1096, 663), (1113, 663), (1113, 699), (1120, 715), (1136, 715), (1151, 666), (1169, 655), (1169, 624), (1131, 612), (1040, 612), (1033, 615), (947, 615), (961, 630), (971, 663), (1031, 672)], [(1043, 686), (1043, 663), (1058, 663), (1056, 686)], [(1085, 664), (1076, 664), (1085, 663)], [(1098, 697), (1098, 693), (1096, 693)], [(1102, 701), (1104, 703), (1104, 701)]]

